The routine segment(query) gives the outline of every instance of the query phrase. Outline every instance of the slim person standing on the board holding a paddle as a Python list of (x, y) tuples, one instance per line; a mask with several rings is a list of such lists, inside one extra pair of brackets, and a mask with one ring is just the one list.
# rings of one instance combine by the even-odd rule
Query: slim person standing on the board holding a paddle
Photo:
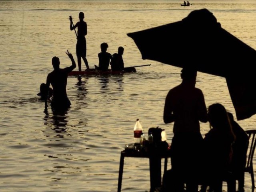
[(81, 71), (81, 57), (84, 60), (84, 63), (86, 65), (86, 69), (90, 71), (88, 61), (86, 59), (86, 38), (87, 35), (87, 24), (84, 21), (84, 13), (79, 13), (79, 21), (73, 26), (72, 17), (69, 17), (70, 20), (70, 30), (77, 30), (77, 43), (76, 43), (76, 56), (77, 56), (77, 62), (78, 62), (78, 70)]

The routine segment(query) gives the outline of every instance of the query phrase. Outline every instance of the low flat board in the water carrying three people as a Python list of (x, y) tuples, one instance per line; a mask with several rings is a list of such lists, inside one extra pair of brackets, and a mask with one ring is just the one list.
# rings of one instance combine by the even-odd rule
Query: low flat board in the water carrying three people
[(133, 67), (125, 67), (123, 71), (112, 71), (112, 70), (108, 70), (108, 71), (101, 71), (101, 70), (97, 70), (97, 68), (94, 69), (90, 69), (90, 71), (71, 71), (70, 73), (68, 73), (68, 76), (94, 76), (94, 75), (122, 75), (124, 73), (134, 73), (136, 72), (136, 68), (135, 67), (142, 67), (142, 66), (150, 66), (151, 64), (147, 64), (147, 65), (139, 65), (139, 66), (133, 66)]

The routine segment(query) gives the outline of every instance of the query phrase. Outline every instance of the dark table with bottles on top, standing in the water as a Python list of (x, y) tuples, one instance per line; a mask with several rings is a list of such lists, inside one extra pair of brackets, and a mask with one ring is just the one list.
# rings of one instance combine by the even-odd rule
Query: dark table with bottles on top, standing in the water
[(121, 151), (121, 155), (120, 155), (117, 192), (121, 192), (125, 157), (149, 158), (150, 192), (154, 191), (156, 187), (162, 186), (161, 159), (164, 158), (164, 172), (165, 172), (167, 170), (168, 157), (170, 157), (170, 153), (168, 151), (159, 152), (158, 150), (154, 150), (151, 152), (146, 152), (143, 150), (123, 150)]

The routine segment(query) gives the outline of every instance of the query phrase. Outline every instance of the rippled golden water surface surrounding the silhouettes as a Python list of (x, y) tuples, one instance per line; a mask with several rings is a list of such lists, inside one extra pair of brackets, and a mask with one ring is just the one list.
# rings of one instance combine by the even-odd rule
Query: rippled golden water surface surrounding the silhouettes
[[(133, 141), (136, 118), (145, 132), (156, 126), (166, 129), (171, 142), (173, 124), (165, 125), (162, 115), (168, 90), (180, 83), (180, 69), (142, 60), (126, 34), (176, 22), (192, 10), (207, 8), (224, 29), (256, 48), (255, 0), (198, 0), (185, 8), (180, 6), (182, 2), (0, 1), (1, 192), (116, 191), (120, 151)], [(91, 68), (98, 64), (102, 42), (108, 43), (112, 54), (123, 46), (126, 66), (151, 66), (123, 76), (90, 76), (81, 81), (69, 77), (72, 108), (63, 116), (51, 111), (46, 115), (36, 94), (52, 71), (53, 56), (60, 58), (61, 67), (70, 65), (66, 50), (75, 56), (76, 38), (69, 30), (68, 17), (72, 15), (76, 22), (80, 11), (88, 24)], [(198, 73), (197, 87), (204, 92), (207, 106), (220, 102), (234, 113), (224, 78)], [(245, 130), (255, 128), (256, 116), (239, 124)], [(201, 124), (202, 134), (208, 130), (208, 123)], [(149, 188), (148, 159), (126, 158), (122, 190), (144, 192)], [(246, 174), (246, 192), (250, 188)]]

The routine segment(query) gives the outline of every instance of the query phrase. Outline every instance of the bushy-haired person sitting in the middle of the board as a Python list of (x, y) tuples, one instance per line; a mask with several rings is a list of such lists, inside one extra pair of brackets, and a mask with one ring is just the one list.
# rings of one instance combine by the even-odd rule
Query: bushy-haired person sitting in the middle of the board
[(95, 66), (97, 70), (108, 71), (109, 62), (112, 59), (112, 55), (107, 52), (108, 44), (100, 44), (101, 52), (98, 53), (99, 66)]

